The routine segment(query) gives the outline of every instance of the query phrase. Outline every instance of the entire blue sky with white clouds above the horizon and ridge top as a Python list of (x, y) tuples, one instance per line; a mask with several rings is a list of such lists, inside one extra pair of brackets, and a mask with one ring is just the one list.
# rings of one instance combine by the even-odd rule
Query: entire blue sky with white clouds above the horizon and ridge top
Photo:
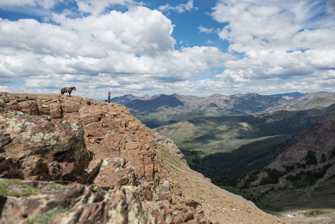
[(0, 0), (0, 91), (72, 86), (335, 92), (335, 0)]

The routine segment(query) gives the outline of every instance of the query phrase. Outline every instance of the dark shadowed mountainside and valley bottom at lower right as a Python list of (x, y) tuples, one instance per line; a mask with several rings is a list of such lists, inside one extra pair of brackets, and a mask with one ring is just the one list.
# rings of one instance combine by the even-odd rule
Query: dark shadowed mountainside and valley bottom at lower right
[(244, 176), (213, 181), (264, 210), (289, 215), (293, 222), (332, 223), (335, 219), (335, 115), (294, 135), (289, 147), (268, 166)]

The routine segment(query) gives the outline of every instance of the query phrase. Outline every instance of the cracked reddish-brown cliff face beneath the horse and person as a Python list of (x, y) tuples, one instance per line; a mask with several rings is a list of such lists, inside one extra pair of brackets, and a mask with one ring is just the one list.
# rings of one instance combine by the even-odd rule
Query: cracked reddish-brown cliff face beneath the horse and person
[(85, 144), (94, 159), (122, 157), (133, 163), (139, 179), (152, 181), (153, 185), (166, 179), (150, 133), (123, 105), (61, 94), (0, 92), (0, 98), (13, 110), (81, 124)]

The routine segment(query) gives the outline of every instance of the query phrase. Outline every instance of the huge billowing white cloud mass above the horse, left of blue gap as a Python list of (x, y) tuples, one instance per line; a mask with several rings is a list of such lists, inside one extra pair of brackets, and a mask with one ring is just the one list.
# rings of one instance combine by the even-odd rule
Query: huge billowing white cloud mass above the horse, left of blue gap
[(0, 77), (24, 82), (8, 86), (12, 91), (58, 93), (76, 86), (78, 94), (95, 97), (90, 90), (158, 91), (234, 58), (209, 46), (175, 50), (173, 27), (143, 6), (83, 18), (54, 14), (49, 22), (0, 19)]

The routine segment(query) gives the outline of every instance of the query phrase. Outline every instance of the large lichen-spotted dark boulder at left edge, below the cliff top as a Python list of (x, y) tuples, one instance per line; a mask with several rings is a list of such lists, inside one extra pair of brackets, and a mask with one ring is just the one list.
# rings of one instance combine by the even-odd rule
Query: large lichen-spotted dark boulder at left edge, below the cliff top
[(0, 136), (0, 177), (71, 180), (92, 159), (84, 131), (74, 122), (0, 107)]

